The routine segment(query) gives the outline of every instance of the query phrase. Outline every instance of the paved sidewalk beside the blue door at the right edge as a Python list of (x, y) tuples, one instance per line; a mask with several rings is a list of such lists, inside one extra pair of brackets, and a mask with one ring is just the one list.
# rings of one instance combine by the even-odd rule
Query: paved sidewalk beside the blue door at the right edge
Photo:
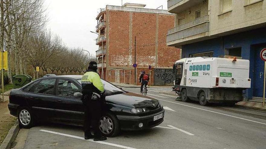
[(240, 101), (236, 103), (237, 107), (243, 107), (247, 109), (253, 109), (253, 110), (259, 110), (259, 111), (265, 111), (266, 112), (266, 104), (265, 107), (262, 107), (262, 102), (257, 101)]

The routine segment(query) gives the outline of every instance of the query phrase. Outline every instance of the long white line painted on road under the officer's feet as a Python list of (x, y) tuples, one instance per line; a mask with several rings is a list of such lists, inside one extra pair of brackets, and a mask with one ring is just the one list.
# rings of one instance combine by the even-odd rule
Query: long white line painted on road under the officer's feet
[[(75, 136), (75, 135), (68, 135), (68, 134), (64, 134), (64, 133), (60, 133), (60, 132), (52, 132), (52, 131), (43, 130), (43, 129), (41, 129), (40, 131), (53, 133), (53, 134), (57, 134), (57, 135), (63, 135), (63, 136), (71, 137), (71, 138), (77, 138), (77, 139), (85, 140), (83, 137), (79, 137), (79, 136)], [(127, 147), (127, 146), (113, 144), (113, 143), (108, 143), (108, 142), (103, 142), (103, 141), (93, 141), (93, 139), (89, 139), (89, 140), (86, 140), (86, 141), (91, 141), (91, 142), (95, 142), (95, 143), (99, 143), (99, 144), (105, 144), (105, 145), (110, 145), (110, 146), (115, 146), (115, 147), (120, 147), (120, 148), (125, 148), (125, 149), (136, 149), (136, 148), (132, 148), (132, 147)]]

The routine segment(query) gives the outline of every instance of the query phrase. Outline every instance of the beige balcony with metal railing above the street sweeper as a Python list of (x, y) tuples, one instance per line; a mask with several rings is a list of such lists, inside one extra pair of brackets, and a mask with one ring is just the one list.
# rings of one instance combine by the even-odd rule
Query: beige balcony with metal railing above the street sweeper
[(211, 39), (209, 36), (209, 15), (171, 28), (167, 31), (166, 36), (167, 46), (175, 47), (206, 39)]

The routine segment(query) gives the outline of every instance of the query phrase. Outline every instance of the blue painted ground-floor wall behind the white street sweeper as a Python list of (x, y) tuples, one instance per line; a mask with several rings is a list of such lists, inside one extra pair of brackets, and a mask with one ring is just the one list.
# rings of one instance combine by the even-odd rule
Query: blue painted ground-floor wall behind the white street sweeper
[[(241, 47), (242, 58), (250, 60), (251, 88), (244, 91), (244, 98), (251, 99), (253, 91), (253, 70), (255, 45), (266, 43), (266, 27), (254, 29), (247, 32), (237, 33), (229, 36), (218, 37), (202, 42), (196, 42), (182, 46), (182, 58), (189, 57), (189, 54), (214, 51), (213, 56), (225, 55), (224, 49)], [(261, 66), (262, 67), (262, 66)]]

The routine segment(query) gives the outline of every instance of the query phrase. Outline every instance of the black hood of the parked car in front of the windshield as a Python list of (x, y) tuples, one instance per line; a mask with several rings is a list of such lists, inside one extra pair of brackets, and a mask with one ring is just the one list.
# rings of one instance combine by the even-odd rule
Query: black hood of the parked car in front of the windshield
[(118, 104), (132, 108), (157, 107), (159, 104), (159, 101), (154, 98), (131, 92), (106, 96), (105, 101), (106, 103)]

